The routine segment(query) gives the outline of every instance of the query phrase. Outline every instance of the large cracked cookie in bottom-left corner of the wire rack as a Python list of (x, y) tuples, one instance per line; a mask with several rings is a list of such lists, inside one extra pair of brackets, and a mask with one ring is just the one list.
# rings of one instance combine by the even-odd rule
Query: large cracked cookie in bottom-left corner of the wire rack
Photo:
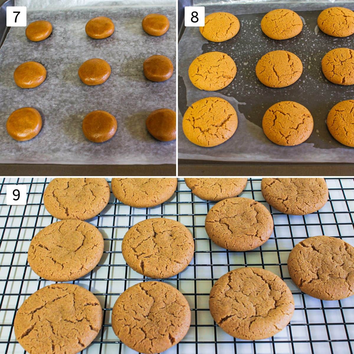
[(13, 324), (28, 353), (79, 353), (97, 337), (103, 313), (95, 295), (75, 284), (45, 286), (27, 298)]

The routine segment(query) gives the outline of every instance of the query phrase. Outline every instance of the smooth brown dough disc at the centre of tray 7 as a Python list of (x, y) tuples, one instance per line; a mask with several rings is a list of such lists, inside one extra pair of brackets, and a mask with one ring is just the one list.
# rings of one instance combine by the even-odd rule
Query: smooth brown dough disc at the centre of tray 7
[(79, 68), (79, 77), (89, 86), (101, 85), (107, 81), (111, 73), (109, 64), (98, 58), (86, 60)]

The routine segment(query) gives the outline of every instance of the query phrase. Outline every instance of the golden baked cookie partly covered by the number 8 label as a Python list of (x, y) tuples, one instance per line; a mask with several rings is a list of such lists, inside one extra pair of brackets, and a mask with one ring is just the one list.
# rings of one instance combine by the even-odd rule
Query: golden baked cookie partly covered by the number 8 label
[(201, 35), (211, 42), (224, 42), (238, 34), (239, 19), (228, 12), (214, 12), (205, 17), (204, 27), (199, 27)]

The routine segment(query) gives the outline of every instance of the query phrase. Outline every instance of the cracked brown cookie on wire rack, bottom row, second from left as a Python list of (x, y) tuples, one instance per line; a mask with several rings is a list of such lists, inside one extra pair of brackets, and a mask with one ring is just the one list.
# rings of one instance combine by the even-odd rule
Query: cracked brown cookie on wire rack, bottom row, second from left
[(116, 336), (139, 353), (161, 353), (187, 334), (190, 308), (175, 287), (161, 281), (146, 281), (125, 290), (112, 310)]

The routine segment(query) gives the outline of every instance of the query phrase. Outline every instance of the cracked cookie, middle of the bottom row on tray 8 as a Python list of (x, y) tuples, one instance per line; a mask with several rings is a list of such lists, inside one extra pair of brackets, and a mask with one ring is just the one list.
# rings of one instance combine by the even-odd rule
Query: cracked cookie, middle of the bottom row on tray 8
[(313, 130), (313, 118), (302, 104), (281, 101), (264, 113), (262, 127), (267, 138), (275, 144), (294, 146), (306, 141)]

